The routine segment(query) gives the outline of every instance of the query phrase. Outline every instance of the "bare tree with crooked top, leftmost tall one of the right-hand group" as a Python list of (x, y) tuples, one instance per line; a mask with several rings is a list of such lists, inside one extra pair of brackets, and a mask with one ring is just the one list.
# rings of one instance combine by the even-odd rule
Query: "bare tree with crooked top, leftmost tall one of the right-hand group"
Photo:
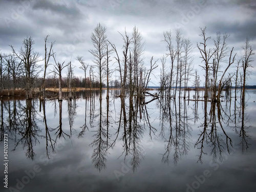
[(200, 42), (199, 44), (197, 43), (197, 48), (200, 51), (201, 57), (204, 62), (205, 66), (201, 66), (205, 70), (205, 84), (204, 84), (204, 97), (208, 97), (208, 72), (209, 72), (209, 61), (211, 57), (215, 54), (216, 50), (209, 49), (207, 50), (207, 40), (209, 40), (211, 37), (206, 37), (206, 27), (201, 28), (201, 34), (199, 36), (203, 37), (203, 42)]

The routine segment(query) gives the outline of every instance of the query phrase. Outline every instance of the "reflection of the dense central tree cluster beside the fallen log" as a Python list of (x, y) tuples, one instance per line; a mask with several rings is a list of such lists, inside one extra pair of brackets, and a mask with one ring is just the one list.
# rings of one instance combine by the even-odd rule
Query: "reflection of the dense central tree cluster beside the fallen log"
[[(128, 99), (129, 98), (127, 98), (127, 100)], [(122, 132), (122, 155), (124, 154), (124, 160), (126, 159), (126, 157), (131, 155), (130, 163), (132, 165), (133, 171), (135, 172), (137, 167), (141, 163), (141, 159), (143, 158), (144, 151), (141, 145), (141, 139), (145, 131), (145, 126), (147, 125), (147, 127), (150, 129), (150, 134), (152, 130), (154, 133), (155, 128), (151, 125), (151, 122), (149, 121), (146, 104), (143, 104), (144, 99), (141, 99), (139, 97), (136, 97), (135, 100), (129, 99), (129, 105), (126, 106), (125, 99), (123, 97), (120, 97), (120, 102), (120, 116), (117, 121), (118, 129), (117, 132), (114, 134), (116, 136), (111, 144), (111, 147), (115, 145), (119, 133)], [(127, 113), (126, 111), (129, 111), (129, 113)]]

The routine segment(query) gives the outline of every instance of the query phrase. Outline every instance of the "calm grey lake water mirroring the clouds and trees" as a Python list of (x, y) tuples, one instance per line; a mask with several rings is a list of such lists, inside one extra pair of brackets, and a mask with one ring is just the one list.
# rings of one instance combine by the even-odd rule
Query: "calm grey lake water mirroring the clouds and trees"
[(114, 91), (1, 101), (1, 191), (254, 191), (255, 92), (244, 110), (233, 93), (220, 104)]

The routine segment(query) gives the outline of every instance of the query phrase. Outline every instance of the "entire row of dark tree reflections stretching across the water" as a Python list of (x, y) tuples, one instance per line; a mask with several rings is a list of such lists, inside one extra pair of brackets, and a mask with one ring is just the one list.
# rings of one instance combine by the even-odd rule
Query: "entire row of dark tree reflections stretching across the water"
[[(118, 155), (119, 158), (129, 161), (132, 170), (136, 172), (145, 155), (143, 139), (146, 137), (155, 139), (160, 136), (164, 141), (162, 162), (173, 162), (175, 165), (184, 155), (189, 154), (193, 145), (198, 153), (197, 162), (203, 163), (203, 158), (207, 155), (212, 157), (213, 162), (224, 161), (223, 153), (229, 153), (233, 147), (233, 135), (230, 134), (232, 131), (240, 139), (238, 145), (242, 152), (246, 152), (250, 145), (246, 126), (246, 102), (240, 99), (233, 102), (231, 93), (228, 93), (227, 98), (223, 97), (226, 100), (222, 102), (208, 101), (207, 98), (189, 101), (178, 97), (174, 99), (152, 95), (143, 98), (130, 94), (126, 97), (102, 99), (101, 94), (95, 92), (92, 97), (84, 99), (84, 121), (78, 126), (78, 138), (89, 136), (89, 131), (93, 132), (93, 141), (90, 144), (93, 148), (91, 158), (99, 171), (106, 167), (110, 149), (120, 144), (122, 151)], [(37, 112), (39, 100), (2, 99), (1, 141), (4, 133), (8, 133), (8, 136), (15, 140), (14, 151), (18, 149), (18, 145), (22, 145), (26, 156), (34, 160), (34, 146), (40, 139), (45, 139), (46, 154), (49, 158), (49, 153), (55, 151), (57, 138), (70, 138), (72, 131), (76, 129), (77, 100), (67, 100), (67, 108), (63, 108), (68, 113), (70, 133), (62, 126), (62, 102), (66, 101), (60, 100), (58, 104), (56, 100), (52, 101), (54, 117), (47, 117), (47, 102), (49, 101), (42, 101), (42, 110)], [(159, 116), (156, 117), (155, 109), (148, 107), (150, 103), (157, 104)], [(40, 114), (43, 115), (42, 121), (39, 119)], [(52, 129), (49, 120), (55, 116), (58, 118), (58, 126), (55, 125), (57, 127)], [(39, 122), (42, 122), (41, 126), (38, 125)], [(156, 122), (159, 122), (159, 127), (155, 127)], [(193, 123), (196, 126), (199, 124), (199, 127), (193, 129), (198, 135), (195, 143), (191, 144), (194, 139), (191, 138)], [(45, 133), (40, 135), (42, 131)], [(87, 132), (88, 134), (85, 134)], [(148, 136), (145, 136), (145, 133), (148, 133)]]

